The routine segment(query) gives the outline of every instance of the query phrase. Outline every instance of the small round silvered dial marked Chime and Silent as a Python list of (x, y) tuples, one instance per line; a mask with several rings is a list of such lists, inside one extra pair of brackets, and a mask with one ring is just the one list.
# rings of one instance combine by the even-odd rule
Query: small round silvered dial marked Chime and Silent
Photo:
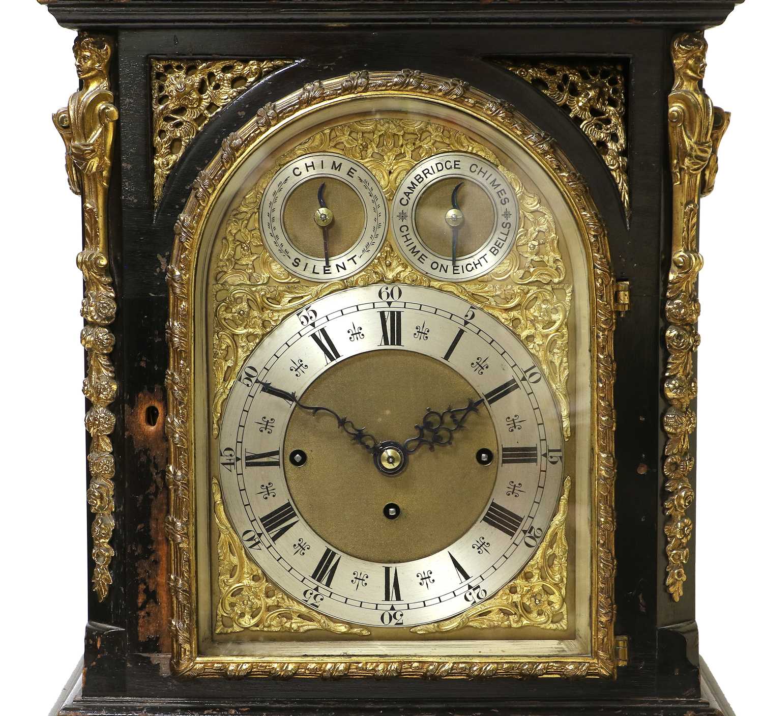
[(335, 281), (368, 266), (387, 233), (387, 201), (373, 174), (347, 156), (305, 154), (273, 176), (260, 233), (295, 276)]

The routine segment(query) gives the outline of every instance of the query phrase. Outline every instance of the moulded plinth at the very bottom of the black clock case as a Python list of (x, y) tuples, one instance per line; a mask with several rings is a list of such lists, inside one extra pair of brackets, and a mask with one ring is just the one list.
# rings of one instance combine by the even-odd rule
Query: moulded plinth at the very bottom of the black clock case
[(501, 705), (475, 703), (401, 704), (359, 701), (324, 701), (291, 704), (136, 698), (82, 698), (81, 666), (72, 674), (50, 716), (734, 716), (707, 665), (700, 661), (700, 699), (621, 699), (617, 701), (511, 701)]

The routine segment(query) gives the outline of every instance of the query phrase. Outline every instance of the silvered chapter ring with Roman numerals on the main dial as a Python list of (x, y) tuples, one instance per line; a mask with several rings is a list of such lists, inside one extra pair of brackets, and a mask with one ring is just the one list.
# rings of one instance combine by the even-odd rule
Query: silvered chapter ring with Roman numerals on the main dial
[[(461, 455), (453, 460), (455, 474), (443, 474), (443, 485), (447, 479), (459, 479), (462, 472), (462, 479), (479, 480), (478, 470), (485, 469), (492, 489), (485, 493), (485, 504), (475, 512), (474, 521), (455, 534), (452, 543), (431, 550), (426, 544), (417, 545), (415, 559), (390, 563), (341, 550), (334, 543), (341, 541), (341, 535), (332, 540), (330, 527), (321, 527), (319, 535), (307, 523), (289, 492), (285, 468), (288, 463), (294, 469), (289, 462), (291, 445), (289, 453), (284, 449), (290, 421), (304, 413), (288, 394), (300, 400), (311, 385), (340, 370), (353, 356), (368, 354), (365, 362), (372, 366), (373, 356), (385, 351), (401, 356), (401, 371), (406, 366), (404, 356), (414, 353), (457, 373), (468, 391), (473, 389), (472, 395), (452, 395), (450, 405), (421, 405), (421, 416), (428, 408), (443, 412), (462, 408), (472, 398), (479, 402), (478, 413), (489, 416), (490, 422), (481, 430), (492, 425), (491, 444), (497, 445), (491, 467), (464, 469), (458, 445), (468, 433), (467, 416), (463, 430), (452, 434), (452, 444), (433, 446), (433, 451), (444, 455)], [(367, 380), (375, 378), (371, 369)], [(285, 395), (263, 390), (263, 383)], [(394, 385), (389, 389), (394, 390)], [(438, 395), (437, 399), (443, 398)], [(387, 405), (376, 407), (388, 410)], [(372, 427), (368, 426), (369, 433)], [(393, 485), (394, 480), (404, 479), (405, 473), (401, 477), (381, 474), (372, 453), (353, 442), (336, 421), (330, 429), (325, 422), (318, 429), (327, 430), (326, 450), (365, 458), (365, 468), (348, 479), (375, 489), (380, 483)], [(417, 435), (414, 425), (410, 435)], [(387, 437), (379, 434), (373, 440)], [(436, 289), (369, 285), (333, 293), (296, 311), (256, 347), (227, 401), (219, 467), (231, 524), (272, 582), (332, 618), (407, 627), (459, 614), (517, 575), (555, 513), (563, 476), (562, 448), (559, 414), (546, 380), (507, 327), (461, 298)], [(428, 450), (424, 443), (408, 454), (407, 469), (415, 472), (417, 459), (423, 459)], [(478, 455), (472, 452), (468, 459), (472, 466)], [(309, 453), (299, 469), (309, 479)], [(320, 492), (324, 483), (318, 476), (315, 479), (314, 490)], [(336, 496), (337, 503), (342, 497)], [(448, 495), (444, 500), (442, 520), (447, 521), (461, 505), (458, 500), (448, 503)], [(387, 507), (384, 502), (382, 494), (379, 514)], [(406, 505), (399, 506), (404, 514)], [(379, 515), (376, 508), (369, 509), (373, 514), (367, 519), (367, 538), (372, 540), (372, 525)], [(362, 521), (364, 515), (356, 518)]]

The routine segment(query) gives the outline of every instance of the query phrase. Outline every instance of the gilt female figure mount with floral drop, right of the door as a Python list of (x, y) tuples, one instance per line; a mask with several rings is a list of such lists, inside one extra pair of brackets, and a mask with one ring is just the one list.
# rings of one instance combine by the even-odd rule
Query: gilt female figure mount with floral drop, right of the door
[(675, 602), (684, 594), (689, 540), (694, 524), (687, 516), (694, 502), (690, 475), (694, 469), (689, 438), (697, 427), (691, 407), (697, 398), (694, 352), (700, 344), (697, 321), (700, 302), (697, 276), (702, 268), (698, 250), (700, 195), (713, 191), (718, 170), (718, 146), (730, 114), (713, 107), (700, 88), (705, 73), (707, 43), (701, 34), (679, 34), (673, 40), (674, 85), (668, 95), (668, 139), (673, 179), (673, 246), (665, 302), (665, 343), (668, 366), (663, 391), (670, 407), (662, 418), (665, 443), (665, 535), (668, 574), (665, 585)]

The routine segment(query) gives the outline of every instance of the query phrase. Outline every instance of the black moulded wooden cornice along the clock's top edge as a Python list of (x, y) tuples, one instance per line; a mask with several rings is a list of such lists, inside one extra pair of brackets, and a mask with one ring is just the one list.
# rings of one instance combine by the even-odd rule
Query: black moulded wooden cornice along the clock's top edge
[(47, 0), (68, 27), (314, 26), (326, 22), (557, 27), (720, 24), (742, 0)]

